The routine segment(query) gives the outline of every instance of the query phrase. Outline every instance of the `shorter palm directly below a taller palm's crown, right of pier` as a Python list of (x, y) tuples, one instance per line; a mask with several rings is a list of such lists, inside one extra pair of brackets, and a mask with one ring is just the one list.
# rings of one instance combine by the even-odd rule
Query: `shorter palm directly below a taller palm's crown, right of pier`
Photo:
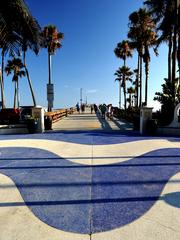
[(126, 109), (126, 82), (130, 81), (132, 82), (132, 75), (133, 72), (131, 72), (129, 67), (122, 66), (120, 67), (115, 75), (117, 76), (116, 80), (119, 81), (120, 88), (123, 88), (123, 93), (124, 93), (124, 108)]

